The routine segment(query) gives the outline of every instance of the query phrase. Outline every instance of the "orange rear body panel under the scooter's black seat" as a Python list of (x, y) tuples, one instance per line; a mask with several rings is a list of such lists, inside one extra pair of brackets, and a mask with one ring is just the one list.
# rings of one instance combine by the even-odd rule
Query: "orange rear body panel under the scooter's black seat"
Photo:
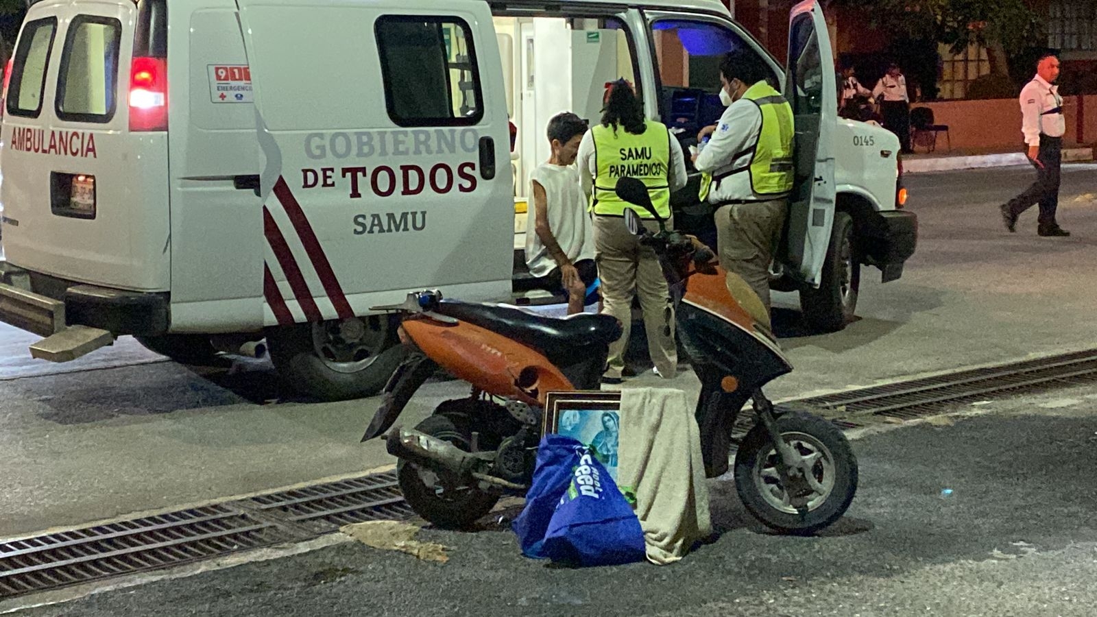
[(406, 319), (403, 327), (439, 366), (488, 394), (543, 406), (548, 392), (575, 390), (542, 354), (479, 326)]

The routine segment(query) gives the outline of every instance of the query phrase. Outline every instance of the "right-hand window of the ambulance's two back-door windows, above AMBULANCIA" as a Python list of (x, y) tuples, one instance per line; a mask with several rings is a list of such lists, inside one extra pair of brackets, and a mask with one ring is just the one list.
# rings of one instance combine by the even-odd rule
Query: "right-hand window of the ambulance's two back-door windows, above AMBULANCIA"
[(118, 42), (122, 23), (79, 15), (72, 20), (61, 52), (57, 80), (57, 117), (110, 122), (118, 90)]

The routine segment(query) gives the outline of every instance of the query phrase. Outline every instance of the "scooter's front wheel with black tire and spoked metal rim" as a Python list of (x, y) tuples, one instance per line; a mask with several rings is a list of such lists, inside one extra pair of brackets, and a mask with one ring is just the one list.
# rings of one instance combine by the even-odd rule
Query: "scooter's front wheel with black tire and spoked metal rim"
[(735, 455), (735, 489), (743, 505), (767, 527), (807, 535), (841, 518), (857, 493), (857, 457), (834, 424), (811, 414), (776, 418), (799, 458), (799, 476), (782, 475), (780, 456), (758, 424)]

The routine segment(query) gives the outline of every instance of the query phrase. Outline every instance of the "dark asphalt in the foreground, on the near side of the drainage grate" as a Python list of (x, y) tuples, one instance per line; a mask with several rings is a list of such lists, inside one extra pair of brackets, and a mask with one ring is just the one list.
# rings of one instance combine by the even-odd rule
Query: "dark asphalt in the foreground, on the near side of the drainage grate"
[(1097, 388), (972, 410), (855, 440), (860, 491), (821, 537), (765, 532), (716, 481), (719, 538), (672, 566), (551, 568), (505, 528), (425, 530), (448, 563), (349, 541), (26, 615), (1093, 615)]

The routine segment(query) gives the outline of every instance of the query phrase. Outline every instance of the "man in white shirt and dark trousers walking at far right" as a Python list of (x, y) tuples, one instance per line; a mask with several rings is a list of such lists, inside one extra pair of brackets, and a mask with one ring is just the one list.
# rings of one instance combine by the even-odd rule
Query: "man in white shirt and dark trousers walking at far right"
[(1017, 231), (1017, 218), (1021, 212), (1039, 203), (1037, 234), (1045, 237), (1071, 235), (1055, 221), (1063, 134), (1066, 133), (1063, 99), (1059, 96), (1059, 87), (1053, 86), (1056, 79), (1059, 58), (1045, 54), (1037, 64), (1036, 77), (1021, 89), (1021, 132), (1028, 145), (1029, 161), (1036, 167), (1037, 179), (1024, 193), (999, 206), (1002, 220), (1010, 233)]

